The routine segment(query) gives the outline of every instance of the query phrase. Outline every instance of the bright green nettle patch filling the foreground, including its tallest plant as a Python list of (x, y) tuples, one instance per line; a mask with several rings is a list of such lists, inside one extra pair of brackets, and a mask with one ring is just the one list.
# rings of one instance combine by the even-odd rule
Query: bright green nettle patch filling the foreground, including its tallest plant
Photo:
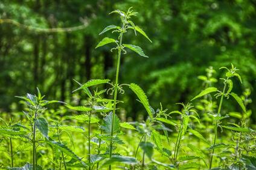
[[(116, 45), (111, 49), (117, 52), (115, 80), (75, 81), (78, 88), (73, 93), (87, 97), (80, 106), (45, 100), (39, 90), (37, 95), (19, 97), (24, 111), (1, 114), (1, 168), (256, 169), (255, 126), (250, 122), (252, 112), (246, 109), (250, 91), (241, 96), (232, 92), (234, 79), (242, 83), (238, 69), (232, 64), (221, 67), (222, 88), (216, 88), (215, 70), (207, 68), (206, 76), (199, 76), (205, 88), (191, 103), (177, 103), (180, 111), (169, 111), (161, 103), (152, 108), (139, 85), (118, 79), (126, 50), (148, 57), (141, 47), (123, 42), (125, 33), (134, 31), (152, 41), (132, 22), (136, 16), (132, 8), (112, 13), (120, 16), (121, 26), (109, 25), (100, 34), (112, 31), (117, 38), (104, 37), (96, 48)], [(101, 89), (104, 84), (107, 89)], [(145, 120), (127, 122), (121, 115), (118, 105), (123, 101), (118, 94), (125, 95), (124, 90), (135, 93), (134, 100), (147, 113)], [(105, 99), (104, 94), (112, 98)], [(223, 109), (226, 100), (237, 103), (237, 111)], [(48, 110), (52, 103), (66, 109)]]

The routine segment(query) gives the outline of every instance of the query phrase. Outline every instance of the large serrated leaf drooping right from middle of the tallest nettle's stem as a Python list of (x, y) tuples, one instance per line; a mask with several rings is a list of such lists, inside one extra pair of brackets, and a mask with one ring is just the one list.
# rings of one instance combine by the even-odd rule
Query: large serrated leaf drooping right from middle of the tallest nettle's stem
[(147, 96), (144, 93), (144, 91), (135, 83), (131, 83), (129, 87), (139, 98), (140, 102), (142, 103), (142, 105), (146, 109), (147, 113), (149, 114), (149, 117), (153, 118), (153, 114), (151, 112), (150, 105), (149, 105), (149, 100), (147, 99)]

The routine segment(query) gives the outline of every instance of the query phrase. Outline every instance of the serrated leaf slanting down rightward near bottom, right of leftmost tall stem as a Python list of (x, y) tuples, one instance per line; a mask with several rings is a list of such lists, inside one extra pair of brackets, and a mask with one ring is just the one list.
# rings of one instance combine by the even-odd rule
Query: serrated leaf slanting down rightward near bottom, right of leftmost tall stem
[(72, 159), (78, 160), (80, 163), (83, 163), (82, 159), (80, 157), (78, 157), (72, 150), (70, 150), (68, 147), (66, 147), (66, 145), (64, 145), (60, 142), (53, 141), (53, 140), (46, 140), (46, 142), (48, 144), (50, 144), (51, 146), (53, 146), (54, 148), (57, 148), (58, 150), (62, 151), (67, 156), (72, 157)]

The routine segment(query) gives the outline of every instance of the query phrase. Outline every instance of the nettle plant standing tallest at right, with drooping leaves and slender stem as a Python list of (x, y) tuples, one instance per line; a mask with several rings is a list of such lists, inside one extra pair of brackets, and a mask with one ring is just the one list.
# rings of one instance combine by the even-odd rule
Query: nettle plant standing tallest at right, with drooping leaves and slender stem
[[(229, 99), (229, 96), (234, 97), (234, 99), (238, 102), (238, 105), (240, 105), (241, 108), (243, 109), (243, 111), (246, 112), (245, 105), (243, 105), (242, 99), (240, 97), (238, 97), (237, 94), (231, 93), (232, 87), (233, 87), (233, 82), (231, 80), (231, 77), (238, 77), (238, 79), (242, 83), (242, 79), (241, 79), (240, 75), (237, 73), (238, 69), (235, 68), (233, 64), (231, 64), (231, 69), (229, 69), (227, 67), (221, 67), (220, 69), (226, 70), (225, 78), (221, 78), (221, 80), (223, 80), (223, 90), (219, 91), (215, 87), (209, 87), (209, 88), (206, 88), (205, 90), (203, 90), (196, 97), (194, 97), (194, 99), (197, 99), (199, 97), (205, 96), (209, 93), (213, 93), (216, 91), (218, 92), (217, 94), (215, 94), (216, 98), (220, 97), (218, 112), (217, 112), (217, 114), (213, 115), (213, 117), (214, 117), (214, 140), (213, 140), (213, 146), (211, 147), (212, 152), (211, 152), (211, 157), (210, 157), (210, 169), (213, 164), (214, 149), (215, 149), (215, 145), (216, 145), (216, 141), (217, 141), (217, 129), (220, 126), (220, 120), (228, 117), (227, 115), (223, 117), (220, 114), (224, 97), (226, 97), (226, 99)], [(228, 90), (226, 90), (226, 88), (228, 88)], [(192, 99), (192, 100), (194, 100), (194, 99)]]

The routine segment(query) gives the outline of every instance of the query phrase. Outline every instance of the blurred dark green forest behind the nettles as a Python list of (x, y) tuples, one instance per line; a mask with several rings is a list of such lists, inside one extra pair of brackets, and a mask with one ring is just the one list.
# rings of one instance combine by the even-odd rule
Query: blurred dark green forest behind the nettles
[[(213, 66), (219, 79), (219, 67), (230, 67), (232, 62), (243, 79), (242, 85), (235, 80), (234, 91), (240, 95), (246, 88), (252, 91), (248, 108), (256, 120), (255, 0), (1, 0), (0, 111), (19, 110), (14, 96), (34, 94), (36, 87), (46, 99), (71, 103), (79, 97), (71, 93), (77, 88), (73, 79), (114, 80), (116, 54), (95, 46), (104, 37), (98, 35), (103, 28), (120, 25), (119, 18), (108, 13), (129, 7), (138, 11), (134, 22), (153, 43), (132, 31), (126, 34), (124, 43), (141, 46), (149, 58), (124, 55), (121, 83), (138, 83), (153, 108), (161, 102), (173, 110), (174, 103), (189, 102), (202, 90), (197, 76), (207, 67)], [(126, 94), (120, 106), (136, 118), (142, 107), (129, 90)], [(224, 107), (240, 111), (232, 103), (225, 102)]]

